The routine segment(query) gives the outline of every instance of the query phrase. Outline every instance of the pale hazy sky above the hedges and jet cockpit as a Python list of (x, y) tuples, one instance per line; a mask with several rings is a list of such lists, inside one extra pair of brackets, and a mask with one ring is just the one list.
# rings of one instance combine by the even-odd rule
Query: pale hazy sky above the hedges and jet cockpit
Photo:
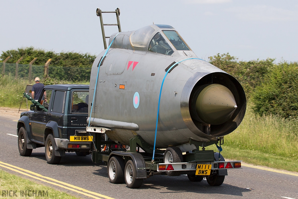
[[(205, 60), (229, 53), (239, 61), (298, 61), (297, 0), (0, 0), (0, 54), (33, 46), (98, 55), (104, 47), (96, 9), (117, 7), (122, 31), (171, 25)], [(103, 21), (117, 23), (115, 13), (104, 13)]]

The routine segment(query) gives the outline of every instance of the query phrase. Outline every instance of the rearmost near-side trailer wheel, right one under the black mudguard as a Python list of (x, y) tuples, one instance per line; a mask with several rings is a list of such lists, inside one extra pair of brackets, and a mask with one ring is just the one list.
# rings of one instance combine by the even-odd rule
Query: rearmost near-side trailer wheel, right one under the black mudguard
[(125, 165), (124, 177), (126, 185), (131, 189), (139, 188), (143, 183), (142, 178), (136, 179), (136, 166), (132, 160), (127, 161)]

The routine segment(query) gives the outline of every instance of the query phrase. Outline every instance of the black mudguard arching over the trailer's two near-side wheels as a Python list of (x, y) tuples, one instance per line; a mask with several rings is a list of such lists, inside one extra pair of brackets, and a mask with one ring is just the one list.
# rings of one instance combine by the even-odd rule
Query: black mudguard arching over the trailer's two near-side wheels
[[(147, 171), (145, 169), (145, 160), (143, 156), (139, 153), (124, 152), (124, 151), (112, 151), (109, 155), (109, 160), (113, 156), (128, 156), (134, 162), (136, 166), (136, 179), (147, 178)], [(142, 169), (138, 169), (142, 168)]]

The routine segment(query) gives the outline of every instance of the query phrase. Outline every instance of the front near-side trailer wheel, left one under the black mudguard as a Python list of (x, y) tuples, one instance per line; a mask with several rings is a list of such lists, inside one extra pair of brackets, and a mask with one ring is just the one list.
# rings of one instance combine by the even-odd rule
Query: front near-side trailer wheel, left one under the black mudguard
[(118, 184), (124, 182), (124, 161), (118, 156), (110, 158), (108, 163), (108, 176), (111, 183)]

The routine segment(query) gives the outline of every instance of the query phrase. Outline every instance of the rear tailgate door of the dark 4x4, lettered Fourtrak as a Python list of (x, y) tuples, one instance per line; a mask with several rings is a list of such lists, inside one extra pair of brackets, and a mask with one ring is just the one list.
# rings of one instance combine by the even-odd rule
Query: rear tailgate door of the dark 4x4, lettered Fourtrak
[[(86, 126), (88, 117), (89, 89), (72, 89), (70, 93), (71, 97), (68, 115), (68, 139), (70, 135), (88, 136), (89, 134), (87, 135), (86, 133)], [(84, 138), (88, 139), (88, 141), (91, 141), (89, 140), (89, 137)]]

